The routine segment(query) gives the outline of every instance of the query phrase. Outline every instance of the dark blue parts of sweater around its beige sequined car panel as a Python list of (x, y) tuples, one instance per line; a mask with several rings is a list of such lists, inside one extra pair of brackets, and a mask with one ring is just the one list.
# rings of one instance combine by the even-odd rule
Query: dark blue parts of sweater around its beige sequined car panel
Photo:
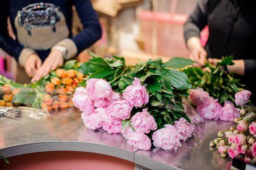
[[(16, 29), (14, 26), (14, 19), (17, 16), (18, 10), (22, 10), (32, 3), (45, 2), (53, 3), (61, 8), (62, 13), (65, 15), (66, 24), (69, 28), (69, 38), (74, 41), (77, 46), (77, 53), (82, 52), (82, 50), (89, 48), (94, 42), (100, 39), (102, 31), (100, 28), (98, 16), (91, 6), (90, 0), (52, 0), (52, 1), (36, 1), (36, 0), (5, 0), (1, 1), (0, 5), (0, 48), (5, 50), (10, 56), (14, 57), (17, 61), (20, 52), (23, 47), (19, 44), (18, 40), (14, 41), (9, 37), (7, 31), (7, 17), (10, 16), (11, 26), (16, 35)], [(83, 31), (81, 31), (77, 36), (72, 37), (72, 5), (75, 6), (81, 23), (83, 24)], [(17, 36), (17, 35), (16, 35)], [(50, 50), (36, 51), (39, 57), (44, 61), (44, 59), (50, 53)]]

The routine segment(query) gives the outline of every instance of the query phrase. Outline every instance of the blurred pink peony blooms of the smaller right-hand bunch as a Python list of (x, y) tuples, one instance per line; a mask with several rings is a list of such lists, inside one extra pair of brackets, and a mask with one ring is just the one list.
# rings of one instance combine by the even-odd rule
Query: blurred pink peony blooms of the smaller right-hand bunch
[[(237, 92), (235, 95), (236, 105), (246, 104), (249, 101), (250, 95), (251, 92), (248, 90)], [(234, 118), (240, 116), (240, 108), (235, 107), (232, 102), (225, 100), (224, 106), (222, 106), (218, 99), (213, 99), (202, 88), (191, 89), (188, 99), (191, 100), (192, 104), (196, 105), (196, 111), (205, 119), (233, 121)], [(242, 109), (242, 112), (244, 112), (244, 109)]]

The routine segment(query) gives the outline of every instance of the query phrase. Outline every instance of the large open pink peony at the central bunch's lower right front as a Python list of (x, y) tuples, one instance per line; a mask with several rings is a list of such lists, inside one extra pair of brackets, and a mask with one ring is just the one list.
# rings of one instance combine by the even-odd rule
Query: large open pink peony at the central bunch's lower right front
[(177, 150), (181, 146), (182, 135), (173, 125), (166, 124), (165, 128), (155, 131), (152, 135), (153, 145), (166, 151)]

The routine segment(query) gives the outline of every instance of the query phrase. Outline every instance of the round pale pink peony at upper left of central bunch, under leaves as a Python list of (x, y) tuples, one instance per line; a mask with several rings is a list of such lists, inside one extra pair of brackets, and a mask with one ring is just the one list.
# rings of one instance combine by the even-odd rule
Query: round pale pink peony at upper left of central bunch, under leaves
[(112, 94), (112, 88), (110, 86), (110, 83), (108, 83), (104, 79), (99, 79), (95, 83), (95, 95), (98, 96), (99, 98), (104, 99), (105, 97), (108, 97)]

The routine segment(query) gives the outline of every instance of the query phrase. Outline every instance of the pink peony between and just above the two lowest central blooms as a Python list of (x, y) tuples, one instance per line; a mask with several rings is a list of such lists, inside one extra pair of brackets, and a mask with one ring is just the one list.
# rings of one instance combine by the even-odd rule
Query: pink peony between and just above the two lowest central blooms
[(140, 133), (149, 133), (150, 130), (157, 130), (157, 122), (148, 112), (148, 108), (143, 109), (131, 118), (131, 125), (135, 131)]

